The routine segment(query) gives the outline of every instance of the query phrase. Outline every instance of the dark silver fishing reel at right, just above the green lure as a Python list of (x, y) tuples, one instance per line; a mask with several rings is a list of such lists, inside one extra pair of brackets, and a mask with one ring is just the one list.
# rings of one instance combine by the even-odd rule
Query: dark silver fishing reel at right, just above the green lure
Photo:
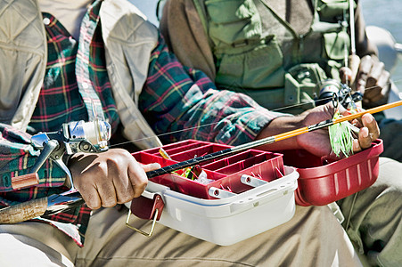
[(334, 79), (320, 81), (316, 85), (316, 92), (318, 92), (318, 96), (315, 99), (316, 105), (324, 105), (332, 101), (334, 107), (340, 104), (345, 109), (350, 109), (363, 99), (362, 93), (352, 92), (348, 85)]

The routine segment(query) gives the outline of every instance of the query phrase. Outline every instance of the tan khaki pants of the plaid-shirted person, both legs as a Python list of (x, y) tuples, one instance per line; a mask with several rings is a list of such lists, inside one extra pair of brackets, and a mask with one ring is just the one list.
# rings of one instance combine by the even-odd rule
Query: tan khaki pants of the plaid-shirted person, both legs
[[(0, 266), (360, 266), (327, 206), (297, 206), (291, 221), (228, 247), (160, 224), (147, 238), (126, 217), (126, 207), (95, 211), (82, 248), (45, 223), (0, 225)], [(130, 224), (150, 229), (144, 220)]]

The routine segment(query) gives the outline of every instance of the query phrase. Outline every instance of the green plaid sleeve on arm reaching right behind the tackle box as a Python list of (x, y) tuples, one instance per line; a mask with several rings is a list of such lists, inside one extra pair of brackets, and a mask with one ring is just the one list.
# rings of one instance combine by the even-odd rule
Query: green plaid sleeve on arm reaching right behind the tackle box
[(196, 139), (237, 145), (254, 140), (273, 118), (283, 116), (245, 94), (217, 90), (201, 71), (177, 61), (161, 36), (139, 107), (165, 142)]

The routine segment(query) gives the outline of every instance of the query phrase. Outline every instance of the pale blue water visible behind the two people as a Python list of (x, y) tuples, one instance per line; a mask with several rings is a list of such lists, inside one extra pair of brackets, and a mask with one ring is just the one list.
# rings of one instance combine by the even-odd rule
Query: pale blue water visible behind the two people
[[(144, 12), (153, 24), (158, 25), (156, 4), (158, 0), (130, 0)], [(402, 43), (402, 1), (401, 0), (360, 0), (366, 25), (378, 26), (390, 31), (398, 43)], [(392, 72), (392, 78), (402, 91), (402, 55)]]

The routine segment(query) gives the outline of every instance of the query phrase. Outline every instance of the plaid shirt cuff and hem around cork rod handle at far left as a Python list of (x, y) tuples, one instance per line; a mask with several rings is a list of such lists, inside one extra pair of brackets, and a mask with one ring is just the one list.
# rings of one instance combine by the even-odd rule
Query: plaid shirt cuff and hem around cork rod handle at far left
[[(12, 189), (12, 177), (28, 174), (29, 168), (35, 164), (40, 155), (40, 150), (31, 145), (30, 139), (31, 135), (18, 131), (10, 125), (0, 124), (0, 208), (68, 190), (63, 186), (66, 174), (52, 160), (46, 160), (44, 166), (37, 172), (39, 184), (20, 190)], [(77, 231), (77, 226), (70, 224), (77, 221), (80, 223), (78, 226), (80, 231), (85, 232), (89, 214), (88, 207), (78, 206), (59, 214), (46, 216), (48, 220), (45, 222), (57, 221), (59, 224), (56, 227), (62, 231), (69, 229)], [(68, 233), (72, 234), (71, 231)], [(82, 237), (81, 241), (83, 240)]]

